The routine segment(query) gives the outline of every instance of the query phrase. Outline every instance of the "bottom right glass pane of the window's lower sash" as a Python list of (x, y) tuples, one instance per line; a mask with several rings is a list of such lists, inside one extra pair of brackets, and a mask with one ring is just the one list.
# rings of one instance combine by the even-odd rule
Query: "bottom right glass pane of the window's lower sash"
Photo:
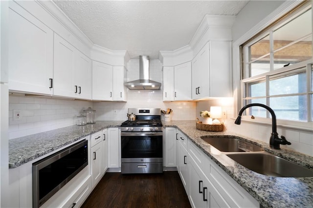
[(307, 98), (305, 95), (269, 98), (270, 107), (277, 119), (307, 121)]

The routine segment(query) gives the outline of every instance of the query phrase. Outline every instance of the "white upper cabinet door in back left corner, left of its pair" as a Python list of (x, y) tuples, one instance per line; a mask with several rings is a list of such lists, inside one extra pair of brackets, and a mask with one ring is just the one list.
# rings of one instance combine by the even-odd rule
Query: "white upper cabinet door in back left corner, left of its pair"
[(113, 100), (113, 67), (92, 61), (92, 100)]

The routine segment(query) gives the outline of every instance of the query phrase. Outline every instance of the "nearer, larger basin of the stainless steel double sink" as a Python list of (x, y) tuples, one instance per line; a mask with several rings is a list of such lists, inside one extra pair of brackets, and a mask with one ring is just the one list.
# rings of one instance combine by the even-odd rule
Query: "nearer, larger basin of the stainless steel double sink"
[(313, 171), (268, 152), (227, 154), (240, 165), (263, 175), (275, 177), (313, 177)]

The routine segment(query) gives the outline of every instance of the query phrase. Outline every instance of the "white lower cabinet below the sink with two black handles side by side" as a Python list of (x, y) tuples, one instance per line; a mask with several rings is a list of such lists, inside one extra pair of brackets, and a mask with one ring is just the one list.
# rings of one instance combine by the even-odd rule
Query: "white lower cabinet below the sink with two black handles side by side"
[[(258, 208), (259, 203), (193, 142), (188, 142), (190, 204), (195, 207)], [(200, 193), (202, 192), (202, 193)]]

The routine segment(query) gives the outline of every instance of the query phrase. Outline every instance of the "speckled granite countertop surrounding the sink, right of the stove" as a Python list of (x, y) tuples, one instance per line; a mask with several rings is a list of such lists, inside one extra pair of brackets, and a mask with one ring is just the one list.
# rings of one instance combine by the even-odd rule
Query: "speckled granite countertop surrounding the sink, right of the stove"
[[(238, 184), (246, 189), (262, 206), (273, 208), (286, 207), (313, 207), (313, 177), (309, 178), (283, 178), (269, 177), (253, 172), (225, 154), (216, 153), (216, 149), (211, 147), (201, 139), (206, 135), (232, 135), (239, 136), (252, 143), (260, 144), (266, 151), (293, 161), (302, 166), (313, 169), (313, 157), (287, 150), (270, 149), (269, 144), (253, 140), (242, 135), (231, 132), (210, 132), (196, 128), (195, 121), (172, 121), (163, 122), (163, 125), (178, 127), (186, 136), (199, 146), (205, 154), (215, 161), (224, 171), (230, 175)], [(212, 151), (211, 151), (212, 148)]]

